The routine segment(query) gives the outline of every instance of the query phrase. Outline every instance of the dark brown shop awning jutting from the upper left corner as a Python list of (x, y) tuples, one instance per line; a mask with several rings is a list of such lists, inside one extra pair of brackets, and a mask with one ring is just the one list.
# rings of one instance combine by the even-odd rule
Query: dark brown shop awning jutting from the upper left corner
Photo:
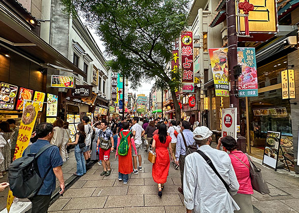
[(56, 51), (32, 31), (27, 23), (11, 12), (0, 1), (0, 46), (13, 51), (40, 66), (53, 64), (73, 70), (74, 73), (86, 78), (86, 74), (69, 59)]

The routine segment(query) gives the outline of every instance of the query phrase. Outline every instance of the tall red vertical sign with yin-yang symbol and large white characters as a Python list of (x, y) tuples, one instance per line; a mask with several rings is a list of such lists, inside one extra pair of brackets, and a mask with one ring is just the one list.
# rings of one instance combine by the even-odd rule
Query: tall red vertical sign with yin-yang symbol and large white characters
[(193, 69), (193, 32), (182, 32), (181, 35), (182, 55), (182, 83), (194, 83)]

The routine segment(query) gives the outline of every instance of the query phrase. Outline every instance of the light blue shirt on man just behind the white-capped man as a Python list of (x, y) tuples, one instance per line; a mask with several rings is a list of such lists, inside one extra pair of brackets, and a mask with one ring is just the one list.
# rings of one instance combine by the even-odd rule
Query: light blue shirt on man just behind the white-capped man
[(182, 133), (177, 135), (177, 141), (176, 141), (176, 148), (175, 148), (175, 158), (178, 160), (180, 158), (180, 155), (186, 155), (186, 147), (184, 144), (183, 136), (186, 139), (187, 146), (193, 145), (195, 140), (193, 138), (193, 132), (189, 129), (184, 129)]

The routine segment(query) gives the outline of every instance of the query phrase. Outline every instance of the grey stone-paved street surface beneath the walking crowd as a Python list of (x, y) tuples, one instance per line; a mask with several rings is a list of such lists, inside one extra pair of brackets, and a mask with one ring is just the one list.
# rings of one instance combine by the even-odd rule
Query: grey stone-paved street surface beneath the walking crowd
[[(128, 185), (117, 180), (118, 160), (111, 155), (112, 174), (100, 176), (103, 168), (94, 165), (77, 181), (63, 197), (49, 208), (51, 213), (62, 212), (186, 212), (183, 195), (177, 192), (180, 172), (170, 165), (169, 176), (162, 198), (157, 195), (157, 186), (152, 179), (152, 164), (147, 155), (142, 155), (142, 172), (131, 174)], [(254, 159), (256, 162), (261, 162)], [(255, 212), (299, 212), (299, 178), (293, 172), (275, 172), (256, 163), (271, 190), (270, 195), (253, 194)]]

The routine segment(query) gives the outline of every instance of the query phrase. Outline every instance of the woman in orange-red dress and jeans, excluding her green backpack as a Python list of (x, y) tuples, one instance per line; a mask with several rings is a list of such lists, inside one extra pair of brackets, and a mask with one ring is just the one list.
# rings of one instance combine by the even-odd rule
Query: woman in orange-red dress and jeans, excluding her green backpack
[[(115, 158), (117, 158), (117, 155), (118, 155), (118, 147), (119, 147), (119, 144), (121, 142), (122, 135), (124, 135), (124, 137), (125, 137), (129, 133), (131, 134), (131, 132), (128, 130), (129, 129), (129, 123), (124, 122), (123, 129), (124, 130), (119, 133), (119, 137), (117, 139), (117, 147), (116, 147)], [(133, 137), (131, 137), (131, 135), (128, 136), (128, 146), (129, 146), (128, 154), (125, 155), (125, 156), (118, 155), (118, 181), (123, 181), (124, 184), (128, 183), (129, 174), (131, 174), (132, 171), (133, 171), (132, 148), (131, 148), (132, 146), (130, 144), (132, 144), (132, 146), (134, 148), (134, 152), (137, 155), (135, 142), (134, 142)]]

